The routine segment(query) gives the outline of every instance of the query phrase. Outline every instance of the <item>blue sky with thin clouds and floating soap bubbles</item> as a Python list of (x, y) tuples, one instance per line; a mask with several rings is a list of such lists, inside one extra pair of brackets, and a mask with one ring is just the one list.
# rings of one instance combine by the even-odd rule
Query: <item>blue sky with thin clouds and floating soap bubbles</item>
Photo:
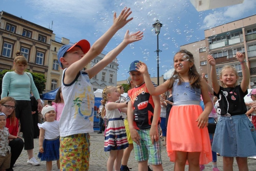
[(92, 45), (112, 25), (113, 13), (119, 15), (125, 6), (131, 8), (133, 20), (115, 34), (104, 50), (109, 52), (122, 42), (126, 30), (141, 30), (144, 37), (117, 57), (118, 81), (129, 76), (129, 64), (134, 60), (145, 62), (151, 76), (157, 76), (157, 38), (152, 27), (156, 19), (163, 24), (159, 34), (159, 75), (169, 78), (174, 53), (181, 45), (203, 40), (206, 29), (256, 14), (255, 0), (202, 12), (196, 11), (189, 0), (1, 0), (0, 11), (52, 27), (56, 36), (71, 42), (87, 39)]

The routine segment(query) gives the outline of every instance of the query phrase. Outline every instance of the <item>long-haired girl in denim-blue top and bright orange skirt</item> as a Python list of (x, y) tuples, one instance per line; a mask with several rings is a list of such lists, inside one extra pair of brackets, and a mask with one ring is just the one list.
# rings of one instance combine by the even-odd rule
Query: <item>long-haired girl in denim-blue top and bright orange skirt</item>
[[(167, 153), (170, 161), (175, 162), (174, 171), (199, 171), (199, 164), (212, 161), (211, 143), (208, 134), (208, 116), (212, 111), (212, 102), (208, 87), (196, 70), (193, 55), (187, 50), (180, 50), (174, 56), (173, 76), (158, 87), (154, 87), (147, 71), (141, 62), (138, 71), (143, 73), (144, 80), (151, 95), (159, 95), (172, 89), (173, 106), (167, 126)], [(205, 109), (200, 107), (202, 95)]]

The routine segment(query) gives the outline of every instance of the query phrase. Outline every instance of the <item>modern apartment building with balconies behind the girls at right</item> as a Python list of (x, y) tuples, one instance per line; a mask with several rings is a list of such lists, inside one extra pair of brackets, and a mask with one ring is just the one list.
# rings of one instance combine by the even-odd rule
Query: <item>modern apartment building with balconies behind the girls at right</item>
[(208, 80), (211, 81), (211, 66), (207, 62), (207, 56), (211, 54), (216, 61), (217, 75), (224, 65), (229, 64), (236, 67), (241, 81), (241, 65), (236, 59), (236, 52), (239, 51), (244, 53), (246, 65), (250, 69), (249, 88), (256, 88), (256, 15), (205, 30), (204, 34), (205, 40), (181, 46), (199, 48), (194, 53), (198, 59), (196, 61), (200, 62), (198, 72), (206, 73)]

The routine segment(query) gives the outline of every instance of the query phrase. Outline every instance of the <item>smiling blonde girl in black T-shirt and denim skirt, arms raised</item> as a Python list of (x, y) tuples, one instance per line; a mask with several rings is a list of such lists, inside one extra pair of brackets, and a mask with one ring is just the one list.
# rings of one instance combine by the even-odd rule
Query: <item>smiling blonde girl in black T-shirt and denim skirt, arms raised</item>
[[(239, 170), (248, 171), (247, 157), (256, 155), (256, 131), (246, 116), (244, 96), (250, 82), (250, 72), (243, 53), (237, 52), (236, 58), (242, 66), (242, 82), (236, 68), (226, 65), (220, 74), (219, 86), (216, 62), (208, 55), (214, 95), (218, 97), (217, 113), (221, 115), (214, 134), (212, 150), (223, 156), (223, 170), (233, 170), (233, 157), (236, 157)], [(245, 144), (250, 144), (248, 148)]]

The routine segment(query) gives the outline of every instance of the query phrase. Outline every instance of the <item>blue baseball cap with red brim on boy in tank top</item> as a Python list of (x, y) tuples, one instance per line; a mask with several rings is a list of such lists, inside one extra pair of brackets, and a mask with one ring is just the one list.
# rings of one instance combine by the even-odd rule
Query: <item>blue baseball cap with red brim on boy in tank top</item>
[(85, 40), (85, 39), (75, 43), (74, 45), (64, 45), (64, 46), (61, 46), (61, 48), (59, 49), (59, 51), (57, 53), (58, 62), (60, 64), (61, 68), (63, 68), (63, 66), (62, 66), (62, 64), (60, 62), (60, 58), (64, 57), (65, 54), (69, 50), (71, 50), (73, 47), (75, 47), (75, 46), (80, 47), (84, 53), (87, 53), (89, 51), (89, 49), (90, 49), (90, 43), (87, 40)]

